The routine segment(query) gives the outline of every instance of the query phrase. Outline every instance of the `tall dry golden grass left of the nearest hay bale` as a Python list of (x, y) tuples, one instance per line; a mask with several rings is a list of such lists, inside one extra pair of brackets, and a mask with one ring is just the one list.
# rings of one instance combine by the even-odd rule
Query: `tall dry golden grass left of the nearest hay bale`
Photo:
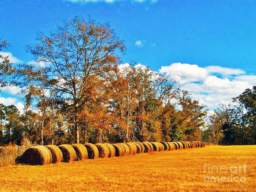
[(22, 155), (32, 143), (28, 139), (23, 139), (21, 146), (9, 144), (0, 148), (0, 167), (15, 165), (15, 159)]

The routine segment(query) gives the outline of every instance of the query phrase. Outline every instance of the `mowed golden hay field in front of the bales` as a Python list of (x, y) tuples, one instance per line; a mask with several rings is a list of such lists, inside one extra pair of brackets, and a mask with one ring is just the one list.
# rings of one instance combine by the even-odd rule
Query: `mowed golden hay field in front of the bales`
[[(209, 171), (205, 163), (217, 166)], [(221, 173), (243, 166), (246, 172)], [(211, 168), (210, 168), (211, 169)], [(233, 169), (234, 171), (234, 169)], [(205, 182), (205, 177), (246, 182)], [(44, 166), (0, 168), (1, 191), (256, 191), (256, 146), (206, 146)]]

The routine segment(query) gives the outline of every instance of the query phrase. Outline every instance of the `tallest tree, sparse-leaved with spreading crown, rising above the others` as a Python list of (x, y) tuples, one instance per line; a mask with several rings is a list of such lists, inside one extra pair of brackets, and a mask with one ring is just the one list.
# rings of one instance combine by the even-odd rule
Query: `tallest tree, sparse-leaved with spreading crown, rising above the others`
[(78, 115), (90, 100), (82, 94), (89, 78), (113, 70), (113, 64), (120, 62), (115, 52), (124, 53), (125, 45), (109, 24), (95, 23), (90, 18), (85, 22), (79, 17), (64, 21), (64, 26), (50, 36), (39, 33), (37, 40), (38, 44), (28, 46), (28, 51), (48, 66), (38, 75), (33, 66), (26, 65), (20, 74), (35, 80), (40, 78), (44, 88), (58, 91), (59, 102), (73, 122), (79, 143)]

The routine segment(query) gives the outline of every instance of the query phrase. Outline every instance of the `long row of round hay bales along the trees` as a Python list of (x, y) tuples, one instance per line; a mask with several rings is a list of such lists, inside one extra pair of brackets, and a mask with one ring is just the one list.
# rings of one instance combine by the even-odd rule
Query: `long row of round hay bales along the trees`
[(17, 158), (17, 163), (29, 165), (44, 165), (59, 162), (71, 162), (76, 160), (122, 157), (143, 152), (160, 152), (175, 149), (190, 149), (204, 147), (201, 141), (181, 142), (128, 142), (128, 143), (85, 143), (63, 144), (60, 146), (33, 146), (27, 149), (23, 155)]

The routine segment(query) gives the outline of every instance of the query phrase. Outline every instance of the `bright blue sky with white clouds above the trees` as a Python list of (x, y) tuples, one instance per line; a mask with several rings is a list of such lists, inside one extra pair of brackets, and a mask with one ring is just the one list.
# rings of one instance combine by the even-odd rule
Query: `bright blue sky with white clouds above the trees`
[[(25, 46), (37, 31), (89, 14), (125, 40), (123, 63), (170, 75), (213, 109), (256, 85), (255, 11), (254, 0), (0, 0), (0, 37), (11, 45), (3, 52), (27, 63), (34, 58)], [(0, 102), (16, 98), (17, 88), (10, 90), (2, 89)]]

